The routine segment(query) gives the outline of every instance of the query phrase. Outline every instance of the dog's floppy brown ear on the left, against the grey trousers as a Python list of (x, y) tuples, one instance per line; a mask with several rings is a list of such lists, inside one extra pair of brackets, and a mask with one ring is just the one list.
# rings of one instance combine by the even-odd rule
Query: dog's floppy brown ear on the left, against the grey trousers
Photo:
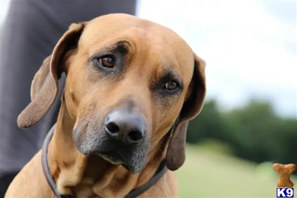
[(77, 45), (85, 25), (86, 23), (71, 24), (54, 47), (52, 54), (43, 61), (31, 84), (31, 102), (17, 118), (20, 128), (31, 127), (48, 112), (58, 93), (58, 79), (63, 72), (62, 57), (67, 49)]

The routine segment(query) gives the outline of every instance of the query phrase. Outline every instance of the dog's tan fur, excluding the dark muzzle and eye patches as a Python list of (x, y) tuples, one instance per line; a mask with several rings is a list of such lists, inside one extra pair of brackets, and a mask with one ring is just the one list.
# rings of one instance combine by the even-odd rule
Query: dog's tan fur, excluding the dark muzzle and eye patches
[[(90, 68), (90, 56), (122, 40), (130, 43), (125, 76), (112, 79)], [(184, 89), (179, 96), (164, 99), (152, 94), (149, 85), (161, 77), (164, 65), (182, 80)], [(177, 182), (171, 170), (184, 163), (187, 125), (202, 108), (204, 68), (205, 62), (176, 33), (147, 20), (110, 14), (71, 24), (37, 72), (31, 103), (19, 115), (18, 125), (30, 127), (46, 114), (57, 93), (57, 80), (65, 72), (62, 104), (48, 154), (60, 194), (76, 198), (124, 197), (147, 183), (166, 159), (170, 170), (140, 197), (177, 197)], [(74, 127), (84, 126), (80, 131), (84, 136), (90, 124), (99, 125), (110, 109), (131, 98), (146, 118), (151, 143), (146, 166), (139, 174), (97, 155), (83, 155), (72, 139)], [(167, 133), (179, 114), (177, 129)], [(44, 177), (40, 151), (16, 176), (5, 197), (54, 197)]]

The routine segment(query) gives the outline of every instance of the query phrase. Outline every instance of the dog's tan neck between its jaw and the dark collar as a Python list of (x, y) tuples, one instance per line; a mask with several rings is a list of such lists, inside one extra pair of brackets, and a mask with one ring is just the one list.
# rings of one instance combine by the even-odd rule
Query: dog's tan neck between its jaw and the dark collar
[[(60, 194), (83, 197), (124, 197), (153, 177), (164, 159), (167, 136), (151, 148), (148, 163), (140, 174), (113, 165), (99, 156), (85, 156), (74, 145), (75, 119), (61, 104), (56, 129), (49, 145), (49, 167)], [(120, 188), (119, 188), (120, 187)]]

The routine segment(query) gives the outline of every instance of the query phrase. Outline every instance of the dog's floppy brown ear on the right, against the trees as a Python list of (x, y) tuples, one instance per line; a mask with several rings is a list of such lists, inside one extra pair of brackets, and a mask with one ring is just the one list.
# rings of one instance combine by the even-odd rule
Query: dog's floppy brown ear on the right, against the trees
[(188, 94), (190, 97), (184, 102), (176, 129), (169, 140), (166, 165), (169, 170), (177, 170), (185, 161), (185, 144), (188, 123), (201, 111), (205, 98), (205, 61), (194, 54), (194, 73)]

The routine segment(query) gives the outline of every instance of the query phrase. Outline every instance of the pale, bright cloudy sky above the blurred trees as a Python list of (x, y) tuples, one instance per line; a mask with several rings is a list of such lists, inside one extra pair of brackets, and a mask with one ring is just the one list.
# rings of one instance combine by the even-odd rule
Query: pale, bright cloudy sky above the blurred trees
[[(1, 21), (9, 1), (0, 0)], [(206, 61), (207, 99), (268, 99), (297, 118), (297, 0), (139, 0), (137, 16), (178, 33)]]

